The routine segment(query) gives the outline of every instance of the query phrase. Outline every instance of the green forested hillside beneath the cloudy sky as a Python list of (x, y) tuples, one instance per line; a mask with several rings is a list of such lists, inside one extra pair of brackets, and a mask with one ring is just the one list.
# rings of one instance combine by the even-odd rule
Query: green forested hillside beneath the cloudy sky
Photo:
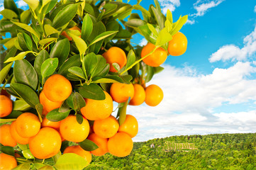
[(135, 142), (128, 157), (93, 157), (87, 169), (256, 169), (256, 133)]

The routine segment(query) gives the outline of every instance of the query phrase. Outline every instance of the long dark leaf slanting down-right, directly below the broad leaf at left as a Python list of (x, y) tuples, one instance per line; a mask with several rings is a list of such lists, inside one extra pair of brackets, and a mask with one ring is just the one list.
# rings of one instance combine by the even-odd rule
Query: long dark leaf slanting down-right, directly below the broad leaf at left
[(18, 83), (10, 84), (10, 86), (20, 98), (26, 101), (33, 108), (35, 108), (35, 106), (39, 103), (38, 95), (29, 86)]

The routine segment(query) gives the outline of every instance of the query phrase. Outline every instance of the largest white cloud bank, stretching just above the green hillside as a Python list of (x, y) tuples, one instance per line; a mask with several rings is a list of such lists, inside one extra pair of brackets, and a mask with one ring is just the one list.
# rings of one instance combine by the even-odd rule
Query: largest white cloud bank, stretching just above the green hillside
[(228, 69), (214, 69), (211, 74), (197, 74), (195, 69), (165, 65), (150, 84), (164, 91), (156, 107), (128, 106), (128, 114), (138, 119), (135, 141), (171, 135), (255, 132), (256, 111), (214, 113), (223, 103), (230, 106), (256, 101), (256, 80), (247, 79), (256, 72), (250, 62), (238, 62)]

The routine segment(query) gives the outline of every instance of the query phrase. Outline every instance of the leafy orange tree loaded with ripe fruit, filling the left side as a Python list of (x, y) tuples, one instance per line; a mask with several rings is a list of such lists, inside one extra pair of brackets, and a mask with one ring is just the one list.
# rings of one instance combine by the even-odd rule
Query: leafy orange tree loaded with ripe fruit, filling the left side
[[(162, 89), (146, 83), (168, 55), (187, 50), (179, 32), (187, 16), (173, 22), (157, 0), (148, 10), (140, 1), (24, 1), (26, 11), (13, 0), (0, 11), (0, 169), (83, 169), (91, 154), (126, 157), (138, 133), (126, 108), (162, 101)], [(148, 45), (133, 45), (136, 33)]]

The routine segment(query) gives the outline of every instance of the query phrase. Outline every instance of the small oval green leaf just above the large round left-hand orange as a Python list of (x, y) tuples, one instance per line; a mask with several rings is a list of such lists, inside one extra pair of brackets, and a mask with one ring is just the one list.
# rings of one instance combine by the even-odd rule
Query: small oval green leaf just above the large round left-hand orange
[(43, 62), (41, 66), (41, 75), (43, 79), (45, 77), (49, 77), (55, 72), (55, 69), (57, 69), (58, 61), (59, 60), (57, 58), (48, 58), (45, 60), (45, 62)]

